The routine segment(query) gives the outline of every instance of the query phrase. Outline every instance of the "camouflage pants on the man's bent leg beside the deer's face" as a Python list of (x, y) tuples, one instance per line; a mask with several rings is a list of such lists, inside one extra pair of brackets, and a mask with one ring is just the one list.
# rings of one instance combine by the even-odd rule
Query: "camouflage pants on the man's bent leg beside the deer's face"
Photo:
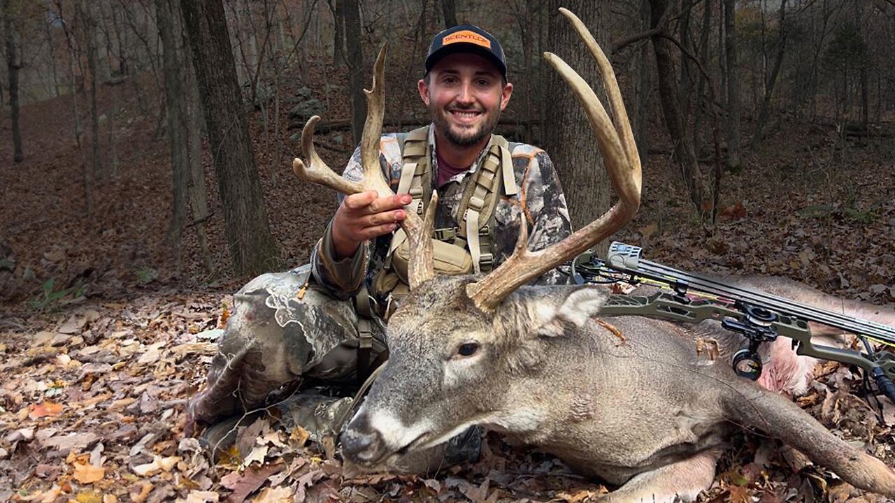
[[(351, 301), (307, 287), (310, 275), (308, 266), (268, 273), (234, 294), (205, 388), (187, 405), (187, 434), (196, 422), (210, 424), (272, 404), (284, 410), (290, 401), (326, 403), (308, 393), (293, 396), (308, 381), (355, 382), (357, 313)], [(374, 358), (386, 348), (385, 328), (378, 320), (370, 326)]]

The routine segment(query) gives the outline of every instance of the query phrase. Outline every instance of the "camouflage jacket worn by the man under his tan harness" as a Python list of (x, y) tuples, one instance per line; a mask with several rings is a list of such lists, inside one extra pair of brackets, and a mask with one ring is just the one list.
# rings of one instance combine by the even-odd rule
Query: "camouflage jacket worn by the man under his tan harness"
[[(379, 145), (379, 164), (392, 190), (396, 191), (402, 166), (399, 133), (383, 135)], [(434, 145), (433, 126), (430, 127), (429, 137), (431, 180), (432, 188), (439, 192), (435, 228), (452, 227), (456, 226), (456, 207), (460, 203), (465, 183), (472, 179), (471, 175), (479, 168), (490, 143), (482, 149), (482, 155), (471, 169), (450, 178), (441, 187), (434, 187), (438, 179)], [(511, 198), (501, 196), (495, 209), (494, 267), (513, 253), (519, 235), (520, 213), (524, 212), (528, 223), (528, 248), (531, 251), (546, 248), (571, 234), (566, 197), (550, 157), (542, 149), (524, 143), (511, 143), (510, 148), (519, 192)], [(354, 151), (342, 176), (349, 180), (362, 179), (360, 148)], [(343, 197), (339, 195), (340, 203)], [(320, 286), (325, 286), (333, 296), (346, 299), (360, 290), (363, 280), (369, 286), (372, 278), (382, 268), (391, 235), (379, 236), (371, 242), (363, 243), (353, 257), (335, 260), (331, 226), (330, 220), (326, 232), (311, 252), (311, 271)], [(567, 276), (553, 269), (544, 273), (536, 283), (556, 285), (566, 282)]]

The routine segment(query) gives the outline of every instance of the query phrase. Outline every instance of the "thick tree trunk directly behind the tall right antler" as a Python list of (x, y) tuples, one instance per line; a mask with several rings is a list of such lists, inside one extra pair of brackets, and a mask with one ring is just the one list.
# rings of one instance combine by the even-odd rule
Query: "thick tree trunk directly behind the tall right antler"
[[(605, 9), (593, 8), (590, 0), (550, 0), (547, 8), (548, 47), (556, 47), (558, 55), (591, 84), (601, 102), (606, 104), (597, 64), (565, 16), (558, 13), (560, 6), (580, 16), (601, 47), (609, 47), (609, 13)], [(578, 229), (609, 209), (609, 180), (597, 141), (587, 126), (584, 109), (558, 73), (549, 64), (545, 66), (547, 82), (541, 87), (551, 92), (545, 97), (548, 102), (544, 108), (550, 127), (545, 134), (544, 147), (563, 183), (572, 227)]]

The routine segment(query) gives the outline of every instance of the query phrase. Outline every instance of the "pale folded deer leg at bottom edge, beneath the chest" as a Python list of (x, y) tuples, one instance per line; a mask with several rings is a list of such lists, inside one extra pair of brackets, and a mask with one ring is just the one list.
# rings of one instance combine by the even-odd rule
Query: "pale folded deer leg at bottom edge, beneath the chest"
[(720, 450), (712, 449), (635, 475), (624, 485), (600, 499), (601, 503), (672, 503), (695, 501), (712, 486)]

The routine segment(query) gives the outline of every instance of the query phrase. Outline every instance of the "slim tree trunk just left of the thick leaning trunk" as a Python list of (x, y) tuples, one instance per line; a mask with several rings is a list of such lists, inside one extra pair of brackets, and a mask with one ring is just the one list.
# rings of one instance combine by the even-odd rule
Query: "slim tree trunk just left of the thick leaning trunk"
[(183, 67), (177, 60), (172, 1), (175, 0), (156, 0), (156, 18), (158, 35), (162, 40), (167, 136), (171, 152), (171, 185), (174, 196), (167, 241), (175, 248), (176, 267), (179, 272), (183, 258), (183, 224), (186, 220), (186, 190), (189, 178), (186, 144), (184, 143), (186, 131), (183, 124), (183, 89), (181, 88)]

